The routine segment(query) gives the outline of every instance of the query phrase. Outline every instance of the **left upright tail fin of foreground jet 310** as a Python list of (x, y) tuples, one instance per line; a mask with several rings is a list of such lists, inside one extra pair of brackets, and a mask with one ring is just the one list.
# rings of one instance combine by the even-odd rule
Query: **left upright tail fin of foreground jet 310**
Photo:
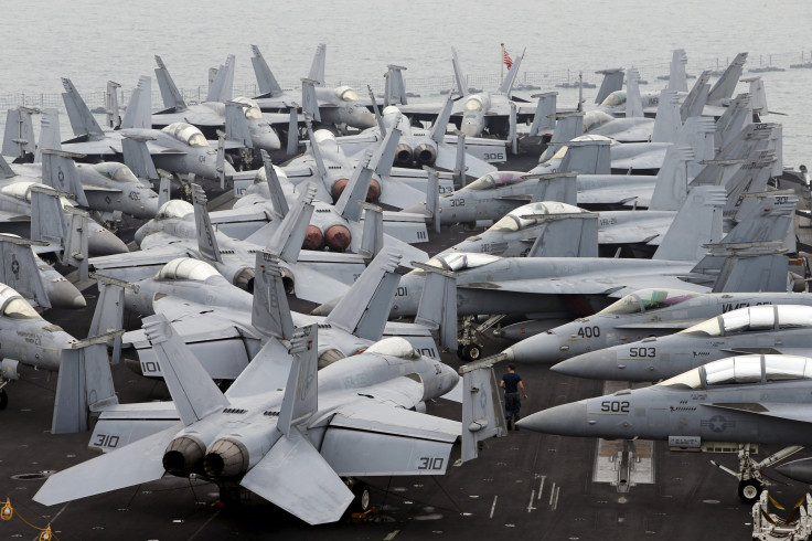
[(185, 426), (228, 406), (228, 400), (165, 317), (145, 318), (143, 331), (161, 363), (163, 380)]

